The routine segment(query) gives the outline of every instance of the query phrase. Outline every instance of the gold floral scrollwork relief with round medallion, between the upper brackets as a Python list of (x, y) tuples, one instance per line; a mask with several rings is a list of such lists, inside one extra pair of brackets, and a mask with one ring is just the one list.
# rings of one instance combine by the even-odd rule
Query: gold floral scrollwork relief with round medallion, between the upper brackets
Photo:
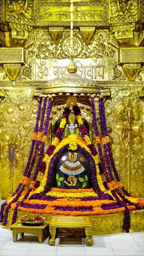
[(29, 49), (29, 56), (36, 56), (38, 59), (66, 59), (73, 55), (82, 59), (88, 57), (96, 57), (97, 59), (103, 56), (113, 57), (115, 54), (115, 49), (109, 45), (109, 32), (107, 30), (97, 30), (89, 45), (85, 45), (79, 32), (74, 30), (73, 49), (70, 42), (70, 30), (63, 32), (59, 45), (54, 45), (48, 31), (38, 32), (35, 45)]

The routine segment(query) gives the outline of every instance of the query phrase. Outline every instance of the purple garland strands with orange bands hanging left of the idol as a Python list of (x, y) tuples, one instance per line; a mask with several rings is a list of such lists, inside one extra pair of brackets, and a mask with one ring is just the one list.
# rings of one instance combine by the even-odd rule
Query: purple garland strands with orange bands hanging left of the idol
[[(46, 112), (47, 102), (48, 102), (48, 106), (47, 106), (47, 112)], [(12, 223), (15, 222), (17, 208), (23, 204), (23, 201), (27, 198), (27, 196), (29, 195), (29, 192), (32, 191), (32, 188), (35, 184), (38, 170), (40, 168), (41, 158), (42, 158), (43, 152), (44, 152), (45, 142), (47, 140), (48, 126), (49, 126), (49, 115), (51, 113), (51, 106), (52, 106), (51, 95), (48, 95), (48, 96), (45, 95), (43, 97), (40, 97), (38, 112), (37, 112), (37, 120), (35, 123), (34, 133), (33, 133), (33, 137), (32, 137), (31, 150), (29, 153), (29, 158), (27, 160), (26, 168), (23, 173), (23, 177), (21, 178), (20, 184), (16, 188), (15, 192), (12, 194), (12, 197), (10, 197), (10, 199), (7, 199), (7, 201), (4, 202), (1, 206), (0, 221), (3, 223), (4, 226), (7, 224), (7, 216), (8, 216), (9, 209), (10, 209), (12, 203), (18, 202), (18, 199), (20, 198), (22, 192), (24, 191), (24, 189), (26, 188), (26, 186), (29, 183), (29, 178), (30, 178), (31, 172), (34, 168), (35, 159), (37, 158), (38, 149), (40, 147), (40, 153), (38, 156), (38, 161), (37, 161), (37, 166), (35, 168), (34, 177), (32, 178), (31, 185), (29, 186), (29, 189), (27, 190), (27, 193), (24, 196), (23, 200), (16, 204), (15, 212), (13, 214)], [(46, 119), (45, 119), (45, 112), (46, 112)], [(44, 120), (45, 120), (45, 125), (44, 125)]]

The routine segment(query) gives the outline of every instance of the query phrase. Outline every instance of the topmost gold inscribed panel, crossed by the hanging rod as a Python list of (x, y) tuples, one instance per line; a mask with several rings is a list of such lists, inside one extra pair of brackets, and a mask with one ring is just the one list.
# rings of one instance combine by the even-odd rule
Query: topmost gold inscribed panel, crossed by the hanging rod
[[(74, 26), (104, 25), (108, 22), (106, 1), (74, 1)], [(70, 26), (70, 1), (35, 1), (35, 25)]]

